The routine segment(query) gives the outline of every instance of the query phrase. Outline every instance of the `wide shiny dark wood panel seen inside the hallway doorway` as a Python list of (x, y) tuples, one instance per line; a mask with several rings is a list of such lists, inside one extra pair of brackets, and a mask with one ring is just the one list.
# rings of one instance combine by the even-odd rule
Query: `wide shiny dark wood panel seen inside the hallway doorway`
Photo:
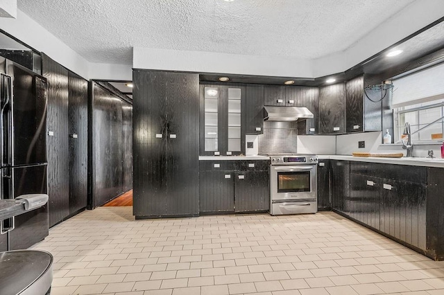
[(96, 207), (123, 193), (123, 102), (94, 82), (92, 87), (92, 204)]

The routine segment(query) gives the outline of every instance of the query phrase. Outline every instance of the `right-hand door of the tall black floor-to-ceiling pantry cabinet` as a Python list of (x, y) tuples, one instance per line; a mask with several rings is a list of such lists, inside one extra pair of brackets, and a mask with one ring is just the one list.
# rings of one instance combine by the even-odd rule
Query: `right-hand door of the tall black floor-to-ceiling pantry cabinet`
[(166, 214), (197, 215), (199, 77), (166, 73)]

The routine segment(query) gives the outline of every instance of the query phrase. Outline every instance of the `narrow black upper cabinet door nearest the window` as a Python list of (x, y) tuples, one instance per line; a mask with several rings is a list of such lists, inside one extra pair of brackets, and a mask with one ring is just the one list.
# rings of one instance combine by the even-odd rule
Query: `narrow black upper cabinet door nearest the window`
[(345, 129), (347, 133), (364, 131), (364, 76), (345, 84)]

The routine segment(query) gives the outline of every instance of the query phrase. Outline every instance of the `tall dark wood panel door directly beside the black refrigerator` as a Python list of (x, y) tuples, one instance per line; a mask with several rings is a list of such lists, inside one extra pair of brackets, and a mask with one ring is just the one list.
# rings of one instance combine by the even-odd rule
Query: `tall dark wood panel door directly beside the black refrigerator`
[(47, 79), (49, 226), (69, 215), (68, 71), (42, 53), (42, 73)]

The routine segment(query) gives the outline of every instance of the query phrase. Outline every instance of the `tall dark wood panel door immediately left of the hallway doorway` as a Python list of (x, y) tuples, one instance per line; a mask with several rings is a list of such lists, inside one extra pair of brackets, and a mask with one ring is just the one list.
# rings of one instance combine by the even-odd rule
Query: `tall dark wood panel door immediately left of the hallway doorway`
[(69, 214), (73, 214), (87, 206), (88, 82), (70, 71), (68, 89)]

